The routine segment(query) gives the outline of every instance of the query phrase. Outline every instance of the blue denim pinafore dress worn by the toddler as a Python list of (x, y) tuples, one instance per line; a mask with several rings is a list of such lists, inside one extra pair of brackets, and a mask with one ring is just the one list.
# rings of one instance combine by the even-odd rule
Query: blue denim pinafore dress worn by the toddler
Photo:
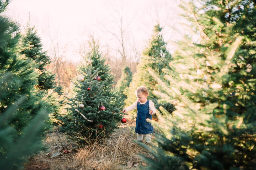
[(137, 117), (135, 132), (138, 134), (149, 134), (153, 133), (153, 126), (147, 122), (146, 119), (152, 120), (152, 115), (149, 114), (149, 100), (145, 104), (137, 102)]

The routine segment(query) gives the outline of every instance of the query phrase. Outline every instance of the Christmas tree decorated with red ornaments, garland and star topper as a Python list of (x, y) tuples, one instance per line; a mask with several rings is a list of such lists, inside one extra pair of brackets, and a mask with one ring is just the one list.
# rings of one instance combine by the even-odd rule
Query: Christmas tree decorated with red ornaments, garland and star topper
[[(113, 93), (106, 91), (110, 89), (107, 83), (112, 82), (106, 77), (111, 74), (102, 71), (105, 67), (100, 66), (102, 64), (99, 62), (100, 58), (96, 61), (91, 60), (91, 58), (96, 58), (93, 57), (96, 55), (94, 49), (92, 48), (92, 51), (88, 53), (89, 57), (86, 57), (88, 58), (85, 60), (87, 64), (84, 66), (81, 64), (78, 67), (80, 73), (78, 79), (72, 81), (74, 96), (67, 97), (67, 104), (70, 105), (67, 108), (67, 114), (59, 116), (60, 128), (72, 135), (73, 139), (80, 144), (83, 144), (85, 140), (95, 141), (107, 137), (121, 120), (120, 109), (114, 106)], [(94, 66), (95, 63), (97, 66)], [(98, 68), (93, 70), (96, 67)]]

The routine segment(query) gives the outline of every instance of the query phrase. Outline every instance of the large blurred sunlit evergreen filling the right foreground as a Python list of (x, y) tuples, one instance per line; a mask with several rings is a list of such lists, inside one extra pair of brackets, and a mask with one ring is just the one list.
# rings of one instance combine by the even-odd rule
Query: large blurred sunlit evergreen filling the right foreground
[[(188, 36), (165, 69), (165, 83), (153, 69), (172, 115), (158, 114), (161, 133), (145, 148), (148, 169), (254, 169), (255, 149), (255, 1), (182, 3), (195, 43)], [(202, 12), (204, 11), (204, 12)], [(163, 112), (165, 109), (160, 107)]]

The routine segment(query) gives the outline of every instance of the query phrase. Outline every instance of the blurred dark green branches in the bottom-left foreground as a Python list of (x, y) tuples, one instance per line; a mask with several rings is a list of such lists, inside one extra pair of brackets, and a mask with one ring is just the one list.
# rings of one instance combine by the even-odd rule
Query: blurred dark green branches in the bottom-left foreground
[[(15, 116), (20, 104), (26, 103), (25, 96), (21, 97), (0, 116), (0, 166), (1, 169), (22, 168), (27, 156), (35, 154), (42, 148), (42, 133), (44, 132), (43, 120), (48, 113), (46, 110), (39, 110), (36, 116), (26, 126), (23, 133), (16, 136), (17, 130), (10, 126), (12, 116)], [(14, 139), (15, 136), (15, 139)]]

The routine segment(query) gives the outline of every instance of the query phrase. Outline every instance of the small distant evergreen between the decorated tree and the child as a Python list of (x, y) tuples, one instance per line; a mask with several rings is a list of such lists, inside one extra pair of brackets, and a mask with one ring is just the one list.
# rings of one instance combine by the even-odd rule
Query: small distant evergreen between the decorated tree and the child
[(119, 96), (121, 97), (122, 102), (124, 102), (124, 100), (127, 99), (127, 96), (124, 94), (124, 89), (129, 87), (131, 81), (132, 81), (131, 69), (129, 67), (125, 67), (122, 70), (122, 75), (120, 79), (116, 83), (116, 89), (118, 90), (118, 93), (119, 93)]

